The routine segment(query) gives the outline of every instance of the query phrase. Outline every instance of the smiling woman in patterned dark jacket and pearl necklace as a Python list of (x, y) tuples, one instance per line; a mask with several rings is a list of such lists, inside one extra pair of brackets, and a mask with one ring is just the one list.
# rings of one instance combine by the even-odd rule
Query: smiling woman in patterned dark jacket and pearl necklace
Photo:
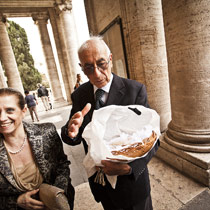
[(52, 123), (28, 124), (23, 95), (0, 89), (0, 209), (45, 209), (42, 183), (64, 190), (73, 209), (69, 161)]

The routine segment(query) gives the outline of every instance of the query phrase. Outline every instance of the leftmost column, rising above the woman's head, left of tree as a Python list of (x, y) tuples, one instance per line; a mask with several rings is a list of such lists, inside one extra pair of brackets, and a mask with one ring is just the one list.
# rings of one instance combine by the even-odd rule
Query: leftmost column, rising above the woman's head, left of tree
[(6, 18), (3, 16), (0, 16), (0, 18), (0, 57), (7, 77), (8, 87), (15, 88), (24, 93), (17, 63), (6, 30)]

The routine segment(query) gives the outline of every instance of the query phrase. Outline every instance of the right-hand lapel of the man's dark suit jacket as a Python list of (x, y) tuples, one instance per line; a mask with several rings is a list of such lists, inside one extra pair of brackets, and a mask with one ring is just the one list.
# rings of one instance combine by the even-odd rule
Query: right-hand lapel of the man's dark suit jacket
[(106, 105), (119, 105), (125, 95), (125, 85), (122, 79), (113, 74), (113, 81), (109, 90)]

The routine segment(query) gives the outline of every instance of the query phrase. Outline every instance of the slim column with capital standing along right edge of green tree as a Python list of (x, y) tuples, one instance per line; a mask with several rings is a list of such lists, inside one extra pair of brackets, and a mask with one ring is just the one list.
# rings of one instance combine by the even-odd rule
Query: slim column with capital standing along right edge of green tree
[[(48, 16), (40, 14), (40, 15), (33, 15), (32, 17), (39, 28), (42, 48), (45, 55), (45, 60), (47, 64), (47, 70), (48, 70), (48, 75), (50, 78), (50, 84), (51, 84), (54, 101), (63, 102), (64, 98), (63, 98), (63, 94), (61, 90), (60, 80), (58, 76), (55, 58), (53, 55), (50, 37), (47, 30)], [(54, 104), (54, 106), (56, 106), (56, 104)]]

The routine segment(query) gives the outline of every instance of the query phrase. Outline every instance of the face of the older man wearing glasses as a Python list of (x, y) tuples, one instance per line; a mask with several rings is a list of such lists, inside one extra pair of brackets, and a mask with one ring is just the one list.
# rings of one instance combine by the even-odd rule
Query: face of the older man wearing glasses
[(79, 54), (79, 58), (85, 75), (97, 88), (104, 87), (110, 81), (112, 54), (108, 55), (103, 44), (91, 43)]

